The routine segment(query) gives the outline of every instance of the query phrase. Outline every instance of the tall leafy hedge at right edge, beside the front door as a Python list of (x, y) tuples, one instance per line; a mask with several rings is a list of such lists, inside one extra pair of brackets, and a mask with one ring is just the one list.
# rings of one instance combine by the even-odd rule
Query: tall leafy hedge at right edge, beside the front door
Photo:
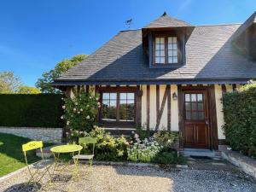
[(226, 93), (224, 103), (224, 132), (231, 148), (256, 157), (256, 83)]

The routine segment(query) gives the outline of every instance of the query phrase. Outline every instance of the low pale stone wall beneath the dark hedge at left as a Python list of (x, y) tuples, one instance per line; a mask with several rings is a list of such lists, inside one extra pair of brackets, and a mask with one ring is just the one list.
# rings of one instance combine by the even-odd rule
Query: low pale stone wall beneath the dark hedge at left
[(62, 128), (0, 126), (0, 132), (2, 133), (9, 133), (15, 136), (26, 137), (32, 140), (39, 140), (48, 143), (61, 143), (62, 131)]

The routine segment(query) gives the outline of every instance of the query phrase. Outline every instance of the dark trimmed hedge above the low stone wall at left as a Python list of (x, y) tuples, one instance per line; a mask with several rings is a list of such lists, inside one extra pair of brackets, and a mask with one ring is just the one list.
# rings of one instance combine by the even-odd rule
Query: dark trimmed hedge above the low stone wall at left
[(0, 94), (0, 125), (63, 127), (62, 95)]

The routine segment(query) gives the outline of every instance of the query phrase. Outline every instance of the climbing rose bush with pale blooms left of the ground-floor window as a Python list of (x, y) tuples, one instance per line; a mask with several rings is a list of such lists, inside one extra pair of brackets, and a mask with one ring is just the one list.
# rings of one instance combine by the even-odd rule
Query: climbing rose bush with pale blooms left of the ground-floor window
[(98, 96), (92, 96), (90, 92), (81, 91), (75, 93), (73, 98), (63, 98), (65, 104), (62, 106), (64, 119), (67, 124), (67, 137), (83, 137), (96, 125), (97, 108), (101, 107)]

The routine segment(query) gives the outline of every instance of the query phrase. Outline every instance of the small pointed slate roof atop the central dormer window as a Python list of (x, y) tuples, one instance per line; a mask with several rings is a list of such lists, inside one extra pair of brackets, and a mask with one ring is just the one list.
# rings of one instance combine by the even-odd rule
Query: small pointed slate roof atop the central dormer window
[(158, 19), (152, 21), (143, 28), (160, 28), (160, 27), (181, 27), (181, 26), (192, 26), (183, 20), (177, 20), (166, 14), (161, 15)]

